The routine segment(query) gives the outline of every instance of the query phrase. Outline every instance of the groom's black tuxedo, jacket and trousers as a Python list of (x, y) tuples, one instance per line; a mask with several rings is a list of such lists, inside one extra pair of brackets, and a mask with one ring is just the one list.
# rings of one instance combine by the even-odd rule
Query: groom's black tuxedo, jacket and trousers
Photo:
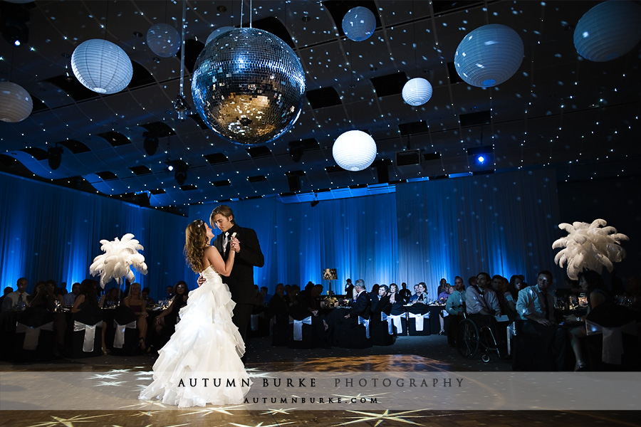
[(254, 266), (262, 267), (265, 264), (265, 257), (261, 252), (261, 245), (256, 236), (256, 231), (251, 228), (243, 228), (234, 224), (229, 230), (226, 248), (223, 249), (225, 233), (220, 233), (214, 239), (212, 246), (218, 249), (223, 260), (226, 262), (229, 256), (229, 246), (231, 245), (231, 235), (236, 233), (236, 238), (240, 242), (241, 250), (236, 253), (234, 258), (234, 268), (231, 268), (229, 277), (222, 278), (223, 282), (229, 287), (231, 299), (236, 302), (234, 307), (234, 325), (245, 339), (247, 326), (251, 317), (251, 310), (254, 307), (256, 292), (254, 290)]

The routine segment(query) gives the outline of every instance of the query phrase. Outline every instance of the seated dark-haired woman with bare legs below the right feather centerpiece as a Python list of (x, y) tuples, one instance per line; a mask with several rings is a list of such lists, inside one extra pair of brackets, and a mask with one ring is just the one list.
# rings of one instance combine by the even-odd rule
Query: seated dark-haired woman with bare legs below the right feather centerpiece
[(570, 334), (570, 345), (572, 346), (572, 351), (574, 352), (574, 357), (576, 359), (576, 364), (574, 367), (575, 371), (585, 371), (588, 369), (587, 364), (585, 364), (585, 358), (583, 356), (583, 347), (581, 345), (580, 339), (588, 335), (585, 330), (585, 317), (588, 317), (591, 310), (594, 310), (601, 304), (613, 304), (614, 298), (610, 295), (607, 289), (605, 289), (605, 283), (603, 283), (603, 278), (601, 275), (593, 270), (583, 271), (579, 273), (579, 285), (585, 295), (588, 295), (588, 314), (580, 317), (573, 315), (567, 315), (565, 321), (570, 322), (580, 322), (575, 327), (571, 328), (568, 333)]

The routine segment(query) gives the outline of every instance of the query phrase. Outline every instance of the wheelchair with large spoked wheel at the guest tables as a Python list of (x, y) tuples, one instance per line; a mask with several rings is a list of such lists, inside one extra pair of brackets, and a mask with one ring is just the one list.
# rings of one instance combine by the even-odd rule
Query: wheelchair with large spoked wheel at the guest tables
[(491, 359), (491, 352), (496, 352), (499, 359), (502, 359), (499, 344), (494, 337), (491, 327), (482, 325), (479, 327), (466, 312), (463, 312), (464, 320), (457, 327), (455, 345), (461, 356), (471, 359), (481, 351), (481, 360), (488, 363)]

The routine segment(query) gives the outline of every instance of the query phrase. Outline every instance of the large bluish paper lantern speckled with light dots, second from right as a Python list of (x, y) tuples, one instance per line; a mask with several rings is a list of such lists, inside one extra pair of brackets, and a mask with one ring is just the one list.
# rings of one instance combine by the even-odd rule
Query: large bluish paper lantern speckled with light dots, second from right
[(498, 23), (484, 25), (463, 38), (454, 54), (457, 73), (469, 85), (490, 88), (516, 73), (523, 61), (523, 41)]

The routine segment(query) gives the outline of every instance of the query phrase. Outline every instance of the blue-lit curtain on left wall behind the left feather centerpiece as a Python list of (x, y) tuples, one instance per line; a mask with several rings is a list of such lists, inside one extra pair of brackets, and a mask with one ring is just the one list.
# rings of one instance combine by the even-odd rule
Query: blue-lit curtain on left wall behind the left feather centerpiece
[(15, 289), (25, 276), (29, 290), (48, 279), (71, 290), (90, 277), (89, 265), (103, 253), (100, 240), (125, 233), (145, 247), (149, 273), (136, 272), (135, 279), (152, 289), (152, 297), (164, 296), (166, 285), (184, 278), (182, 216), (6, 174), (0, 174), (0, 206), (2, 288)]

